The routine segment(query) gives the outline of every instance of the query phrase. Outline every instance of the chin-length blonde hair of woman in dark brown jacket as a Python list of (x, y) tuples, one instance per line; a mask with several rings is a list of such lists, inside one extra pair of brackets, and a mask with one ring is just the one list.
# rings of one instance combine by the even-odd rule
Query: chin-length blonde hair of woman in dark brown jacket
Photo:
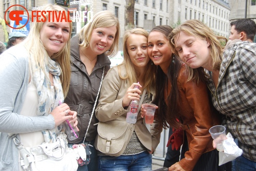
[(89, 21), (86, 26), (84, 26), (79, 32), (79, 39), (82, 47), (88, 47), (92, 38), (93, 30), (96, 28), (107, 28), (116, 26), (116, 35), (110, 50), (105, 52), (106, 55), (112, 57), (118, 52), (118, 42), (120, 36), (120, 26), (119, 21), (115, 15), (107, 10), (100, 11), (93, 16), (92, 21)]

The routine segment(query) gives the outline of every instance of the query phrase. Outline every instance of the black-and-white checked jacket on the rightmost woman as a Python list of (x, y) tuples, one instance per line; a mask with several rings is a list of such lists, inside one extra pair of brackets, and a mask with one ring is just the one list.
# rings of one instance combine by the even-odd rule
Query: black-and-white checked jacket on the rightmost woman
[(256, 43), (237, 42), (223, 53), (218, 86), (208, 82), (215, 108), (239, 140), (243, 156), (256, 161)]

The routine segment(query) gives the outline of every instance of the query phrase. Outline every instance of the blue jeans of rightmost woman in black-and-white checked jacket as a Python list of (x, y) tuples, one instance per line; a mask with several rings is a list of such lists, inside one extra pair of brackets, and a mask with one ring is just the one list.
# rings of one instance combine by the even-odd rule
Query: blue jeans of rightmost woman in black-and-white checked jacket
[(243, 156), (236, 158), (236, 171), (255, 171), (256, 162), (251, 161)]

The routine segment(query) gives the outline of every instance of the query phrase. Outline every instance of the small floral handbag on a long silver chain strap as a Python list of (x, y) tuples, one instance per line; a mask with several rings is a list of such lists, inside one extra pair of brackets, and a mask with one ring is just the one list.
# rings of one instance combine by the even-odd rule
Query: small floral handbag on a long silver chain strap
[[(102, 76), (101, 76), (99, 90), (98, 90), (98, 93), (97, 93), (97, 96), (96, 96), (96, 100), (95, 100), (95, 103), (94, 103), (94, 106), (93, 106), (93, 111), (92, 111), (92, 114), (91, 114), (91, 117), (90, 117), (90, 120), (89, 120), (89, 124), (88, 124), (87, 130), (86, 130), (86, 135), (87, 135), (89, 127), (91, 125), (91, 121), (92, 121), (92, 118), (93, 118), (93, 113), (95, 111), (95, 107), (96, 107), (97, 100), (98, 100), (98, 97), (99, 97), (99, 92), (100, 92), (103, 77), (104, 77), (104, 70), (105, 70), (105, 66), (103, 67), (103, 72), (102, 72)], [(80, 144), (68, 144), (69, 148), (71, 148), (75, 152), (77, 152), (76, 160), (77, 160), (77, 164), (79, 166), (87, 165), (87, 164), (90, 163), (90, 155), (92, 154), (92, 152), (90, 150), (90, 146), (92, 146), (92, 145), (84, 144), (84, 141), (86, 140), (86, 135), (84, 136), (82, 143), (80, 143)]]

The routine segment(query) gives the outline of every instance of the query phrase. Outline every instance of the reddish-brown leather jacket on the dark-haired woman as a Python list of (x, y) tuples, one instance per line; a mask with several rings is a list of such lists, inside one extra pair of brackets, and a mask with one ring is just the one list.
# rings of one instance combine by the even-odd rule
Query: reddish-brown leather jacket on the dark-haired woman
[(220, 124), (220, 114), (212, 106), (207, 85), (203, 82), (187, 82), (185, 70), (186, 65), (183, 65), (178, 76), (178, 89), (179, 108), (189, 150), (179, 164), (189, 171), (193, 170), (203, 153), (214, 150), (209, 128)]

